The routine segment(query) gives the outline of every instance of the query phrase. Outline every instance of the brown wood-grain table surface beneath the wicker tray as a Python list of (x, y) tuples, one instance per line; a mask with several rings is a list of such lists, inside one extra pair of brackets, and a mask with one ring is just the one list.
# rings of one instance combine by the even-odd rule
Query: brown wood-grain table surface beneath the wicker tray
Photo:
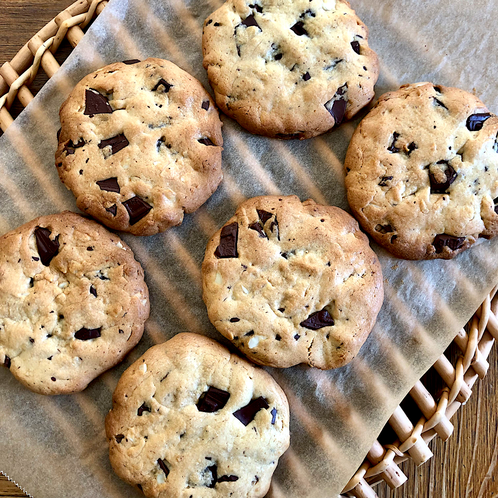
[[(70, 0), (1, 0), (0, 64), (10, 60), (29, 36), (70, 3)], [(62, 63), (70, 50), (69, 43), (65, 41), (56, 54), (57, 60)], [(45, 82), (46, 76), (40, 71), (34, 81), (34, 89), (38, 90)], [(19, 104), (14, 106), (13, 117), (21, 110)], [(379, 485), (376, 490), (379, 498), (498, 497), (496, 348), (492, 350), (489, 362), (488, 376), (476, 384), (468, 404), (453, 419), (455, 432), (451, 439), (447, 443), (442, 443), (440, 439), (433, 440), (429, 446), (434, 458), (419, 469), (411, 461), (401, 464), (408, 482), (392, 493), (387, 486)], [(26, 495), (0, 475), (0, 497), (22, 496)]]

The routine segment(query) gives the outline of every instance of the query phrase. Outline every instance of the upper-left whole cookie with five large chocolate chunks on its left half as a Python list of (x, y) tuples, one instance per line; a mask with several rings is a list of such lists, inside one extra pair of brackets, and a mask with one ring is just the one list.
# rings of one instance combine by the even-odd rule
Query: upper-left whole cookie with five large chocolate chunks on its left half
[(180, 225), (222, 179), (218, 110), (169, 61), (103, 67), (59, 114), (59, 177), (78, 208), (115, 230), (152, 235)]

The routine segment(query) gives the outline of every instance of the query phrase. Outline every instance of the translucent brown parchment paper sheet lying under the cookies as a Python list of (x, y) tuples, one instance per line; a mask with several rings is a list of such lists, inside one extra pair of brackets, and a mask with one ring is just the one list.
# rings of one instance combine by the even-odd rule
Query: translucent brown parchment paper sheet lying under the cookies
[[(377, 96), (416, 81), (476, 92), (497, 113), (498, 32), (493, 1), (352, 0), (381, 60)], [(220, 0), (111, 0), (62, 69), (0, 138), (0, 231), (63, 209), (78, 211), (54, 166), (58, 109), (87, 73), (114, 61), (164, 57), (209, 89), (202, 21)], [(224, 180), (181, 227), (148, 238), (124, 235), (145, 269), (151, 316), (124, 363), (82, 393), (44, 397), (0, 369), (0, 470), (41, 497), (140, 496), (113, 473), (104, 417), (119, 376), (153, 344), (181, 331), (226, 344), (201, 299), (208, 238), (245, 198), (297, 194), (348, 210), (342, 165), (353, 122), (306, 141), (250, 135), (223, 117)], [(332, 498), (413, 383), (498, 281), (498, 241), (451, 261), (407, 262), (373, 245), (385, 277), (383, 308), (347, 367), (268, 369), (291, 408), (291, 446), (273, 478), (275, 498)]]

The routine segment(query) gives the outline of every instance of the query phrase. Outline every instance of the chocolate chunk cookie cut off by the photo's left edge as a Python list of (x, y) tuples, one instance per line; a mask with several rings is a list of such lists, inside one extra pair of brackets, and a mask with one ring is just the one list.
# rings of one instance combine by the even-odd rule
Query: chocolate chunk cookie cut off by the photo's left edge
[(0, 238), (0, 364), (40, 394), (83, 390), (121, 362), (149, 315), (131, 249), (70, 211)]

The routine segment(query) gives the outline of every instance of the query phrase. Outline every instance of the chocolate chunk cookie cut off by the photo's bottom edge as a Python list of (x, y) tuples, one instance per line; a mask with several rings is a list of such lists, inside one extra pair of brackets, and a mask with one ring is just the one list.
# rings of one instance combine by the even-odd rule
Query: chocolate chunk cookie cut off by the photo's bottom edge
[(289, 406), (264, 370), (183, 333), (123, 373), (106, 433), (115, 472), (146, 497), (260, 498), (289, 446)]

